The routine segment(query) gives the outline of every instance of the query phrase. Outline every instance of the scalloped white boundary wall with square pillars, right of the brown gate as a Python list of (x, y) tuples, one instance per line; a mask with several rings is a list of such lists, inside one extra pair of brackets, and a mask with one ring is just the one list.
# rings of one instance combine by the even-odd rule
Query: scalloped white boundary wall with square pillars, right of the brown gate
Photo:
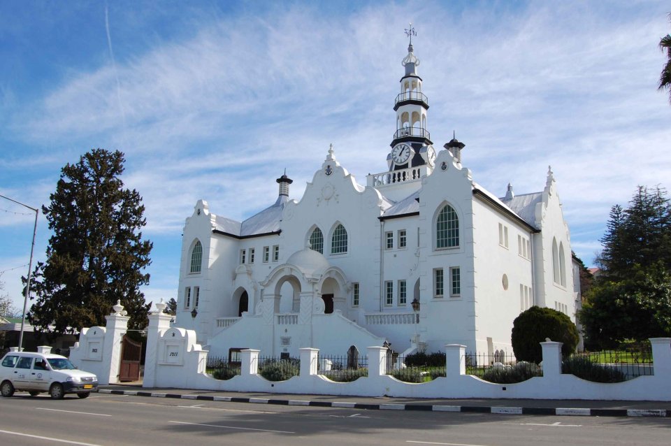
[(215, 380), (205, 373), (207, 354), (192, 330), (170, 328), (170, 317), (150, 315), (143, 387), (181, 387), (282, 394), (394, 396), (407, 398), (524, 398), (671, 401), (671, 338), (651, 338), (654, 375), (601, 384), (561, 373), (561, 343), (541, 343), (543, 376), (517, 384), (494, 384), (466, 375), (464, 345), (447, 344), (446, 377), (411, 384), (386, 375), (387, 350), (368, 347), (368, 377), (333, 382), (317, 375), (319, 350), (301, 348), (301, 374), (270, 382), (258, 372), (259, 350), (243, 350), (241, 375)]

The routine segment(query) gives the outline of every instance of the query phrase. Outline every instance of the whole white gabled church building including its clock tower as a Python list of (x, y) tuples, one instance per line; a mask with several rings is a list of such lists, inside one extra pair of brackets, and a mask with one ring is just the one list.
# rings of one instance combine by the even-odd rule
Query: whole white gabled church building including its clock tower
[(532, 305), (575, 321), (570, 234), (551, 170), (540, 192), (484, 189), (462, 165), (463, 143), (433, 147), (412, 41), (403, 66), (388, 168), (365, 185), (331, 147), (299, 199), (289, 199), (285, 174), (275, 202), (243, 222), (196, 203), (175, 325), (196, 331), (210, 354), (447, 343), (512, 354), (512, 322)]

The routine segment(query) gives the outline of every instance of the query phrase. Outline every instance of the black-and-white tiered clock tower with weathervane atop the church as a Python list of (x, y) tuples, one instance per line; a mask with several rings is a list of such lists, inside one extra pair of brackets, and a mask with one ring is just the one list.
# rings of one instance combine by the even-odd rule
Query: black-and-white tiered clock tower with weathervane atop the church
[(426, 130), (426, 113), (428, 98), (421, 92), (421, 78), (417, 75), (419, 59), (414, 55), (412, 36), (417, 36), (410, 24), (405, 30), (410, 38), (407, 56), (401, 65), (405, 67), (405, 75), (401, 78), (401, 93), (394, 101), (396, 112), (396, 132), (391, 141), (391, 152), (387, 156), (389, 171), (424, 166), (433, 167), (435, 150), (431, 135)]

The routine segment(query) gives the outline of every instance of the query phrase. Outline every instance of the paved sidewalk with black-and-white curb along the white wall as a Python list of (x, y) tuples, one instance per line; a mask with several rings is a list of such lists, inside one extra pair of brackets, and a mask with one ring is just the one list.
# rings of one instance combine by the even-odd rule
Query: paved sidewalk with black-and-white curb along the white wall
[(229, 401), (278, 405), (305, 405), (362, 410), (426, 410), (433, 412), (479, 412), (511, 415), (579, 415), (592, 417), (671, 417), (668, 401), (517, 400), (389, 398), (264, 394), (189, 389), (151, 389), (138, 383), (100, 386), (101, 394), (155, 398), (183, 398), (201, 401)]

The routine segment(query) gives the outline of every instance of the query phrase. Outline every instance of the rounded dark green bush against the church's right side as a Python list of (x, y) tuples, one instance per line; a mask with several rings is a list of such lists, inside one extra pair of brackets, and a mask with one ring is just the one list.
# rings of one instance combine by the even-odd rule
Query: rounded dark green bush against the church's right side
[(517, 361), (540, 363), (540, 343), (545, 338), (563, 343), (561, 353), (568, 356), (578, 345), (578, 329), (563, 312), (536, 306), (521, 312), (512, 323), (512, 350)]

